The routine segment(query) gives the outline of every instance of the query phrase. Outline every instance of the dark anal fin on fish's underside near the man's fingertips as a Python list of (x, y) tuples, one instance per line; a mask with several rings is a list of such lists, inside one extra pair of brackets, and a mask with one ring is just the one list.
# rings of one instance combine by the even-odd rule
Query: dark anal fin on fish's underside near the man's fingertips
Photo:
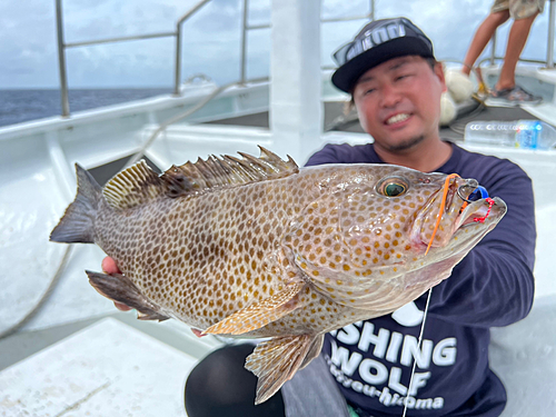
[(86, 271), (91, 286), (106, 298), (135, 308), (139, 320), (167, 320), (170, 317), (160, 312), (160, 307), (145, 297), (128, 277), (120, 274), (99, 274)]

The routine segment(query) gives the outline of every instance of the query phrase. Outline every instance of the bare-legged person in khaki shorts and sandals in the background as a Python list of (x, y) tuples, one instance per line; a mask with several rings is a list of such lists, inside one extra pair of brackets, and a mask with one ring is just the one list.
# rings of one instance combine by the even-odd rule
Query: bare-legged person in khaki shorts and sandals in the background
[(509, 105), (535, 105), (540, 97), (533, 96), (516, 85), (516, 66), (527, 42), (530, 27), (538, 13), (543, 12), (545, 0), (495, 0), (490, 13), (480, 23), (464, 59), (461, 71), (469, 75), (477, 58), (493, 38), (496, 29), (509, 18), (514, 19), (509, 30), (504, 64), (494, 89), (493, 102)]

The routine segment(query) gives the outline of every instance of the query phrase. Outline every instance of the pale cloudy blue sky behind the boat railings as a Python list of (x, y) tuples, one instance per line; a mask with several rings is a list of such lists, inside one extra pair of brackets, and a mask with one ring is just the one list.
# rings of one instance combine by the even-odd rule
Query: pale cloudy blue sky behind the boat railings
[[(280, 0), (275, 0), (280, 1)], [(176, 21), (198, 0), (63, 0), (66, 42), (79, 42), (175, 31)], [(183, 24), (182, 79), (205, 73), (218, 83), (240, 76), (242, 0), (212, 0)], [(249, 1), (249, 24), (270, 22), (271, 0)], [(361, 16), (369, 0), (322, 0), (321, 17)], [(492, 1), (376, 0), (376, 18), (405, 16), (433, 40), (440, 60), (461, 61), (475, 29), (488, 14)], [(546, 59), (548, 2), (533, 27), (524, 58)], [(325, 23), (322, 64), (365, 21)], [(503, 56), (509, 23), (498, 31)], [(269, 29), (247, 39), (247, 77), (268, 76)], [(485, 53), (488, 53), (489, 47)], [(67, 50), (71, 88), (171, 87), (173, 38), (89, 46)], [(0, 89), (58, 88), (56, 0), (0, 1)]]

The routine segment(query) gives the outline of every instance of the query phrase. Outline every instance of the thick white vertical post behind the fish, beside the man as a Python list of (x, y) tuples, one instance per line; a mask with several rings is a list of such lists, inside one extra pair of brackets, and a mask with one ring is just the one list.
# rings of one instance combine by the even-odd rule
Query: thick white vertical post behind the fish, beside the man
[(321, 146), (320, 0), (272, 0), (270, 51), (274, 147), (302, 163)]

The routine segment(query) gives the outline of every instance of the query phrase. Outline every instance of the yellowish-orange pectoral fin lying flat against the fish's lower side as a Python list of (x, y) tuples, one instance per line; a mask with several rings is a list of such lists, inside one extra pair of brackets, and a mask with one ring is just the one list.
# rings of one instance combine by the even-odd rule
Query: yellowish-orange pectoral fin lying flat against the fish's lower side
[(260, 329), (271, 321), (276, 321), (288, 312), (299, 308), (298, 294), (306, 286), (305, 282), (295, 282), (260, 302), (252, 304), (218, 321), (202, 331), (203, 335), (242, 335)]

